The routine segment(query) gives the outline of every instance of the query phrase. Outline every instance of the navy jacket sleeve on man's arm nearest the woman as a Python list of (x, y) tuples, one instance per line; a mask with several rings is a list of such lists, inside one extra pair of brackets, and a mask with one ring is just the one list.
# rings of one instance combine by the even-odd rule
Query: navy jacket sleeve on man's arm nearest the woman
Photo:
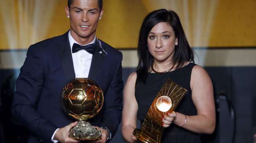
[(105, 112), (103, 114), (101, 127), (107, 127), (113, 137), (118, 129), (122, 118), (122, 99), (123, 99), (123, 80), (122, 80), (122, 53), (118, 60), (114, 77), (107, 89), (104, 98)]

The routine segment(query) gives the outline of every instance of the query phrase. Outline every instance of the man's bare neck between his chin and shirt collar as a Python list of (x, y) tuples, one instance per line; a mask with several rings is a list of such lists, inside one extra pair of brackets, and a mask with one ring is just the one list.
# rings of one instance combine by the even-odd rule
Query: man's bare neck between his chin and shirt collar
[(95, 33), (92, 33), (90, 36), (84, 38), (84, 37), (78, 36), (78, 34), (76, 34), (72, 29), (70, 31), (70, 34), (72, 38), (80, 45), (87, 45), (91, 43), (95, 38)]

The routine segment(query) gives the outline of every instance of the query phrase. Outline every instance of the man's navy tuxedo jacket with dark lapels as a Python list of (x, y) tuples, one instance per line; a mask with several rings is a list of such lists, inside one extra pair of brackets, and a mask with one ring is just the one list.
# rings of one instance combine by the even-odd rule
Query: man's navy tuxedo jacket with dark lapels
[[(104, 42), (107, 55), (96, 40), (88, 78), (93, 79), (104, 94), (102, 110), (89, 122), (98, 127), (107, 127), (112, 136), (118, 129), (122, 116), (122, 53)], [(24, 65), (16, 80), (12, 105), (13, 115), (29, 130), (29, 143), (38, 139), (51, 142), (57, 128), (71, 122), (60, 105), (60, 94), (65, 84), (75, 79), (68, 32), (31, 45)]]

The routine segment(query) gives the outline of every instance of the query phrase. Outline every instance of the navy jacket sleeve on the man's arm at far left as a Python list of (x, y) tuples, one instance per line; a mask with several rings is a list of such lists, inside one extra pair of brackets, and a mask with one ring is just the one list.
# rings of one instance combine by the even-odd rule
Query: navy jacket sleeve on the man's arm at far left
[(35, 136), (45, 142), (51, 142), (51, 136), (57, 127), (45, 120), (38, 112), (37, 105), (44, 87), (45, 73), (42, 56), (33, 45), (27, 51), (24, 65), (16, 80), (12, 113)]

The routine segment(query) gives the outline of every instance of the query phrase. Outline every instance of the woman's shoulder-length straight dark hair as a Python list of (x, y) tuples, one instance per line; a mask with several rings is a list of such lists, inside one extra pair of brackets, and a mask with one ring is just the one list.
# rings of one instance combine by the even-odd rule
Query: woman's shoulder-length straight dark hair
[(174, 11), (167, 11), (166, 9), (159, 9), (149, 13), (143, 20), (140, 28), (140, 35), (138, 39), (138, 58), (139, 63), (136, 69), (137, 79), (145, 82), (149, 69), (153, 64), (153, 56), (150, 54), (147, 47), (147, 37), (151, 29), (160, 22), (168, 22), (174, 30), (176, 38), (178, 38), (178, 45), (175, 45), (173, 55), (173, 65), (177, 64), (176, 69), (181, 68), (186, 61), (194, 63), (194, 52), (189, 46), (185, 32), (180, 23), (180, 18)]

